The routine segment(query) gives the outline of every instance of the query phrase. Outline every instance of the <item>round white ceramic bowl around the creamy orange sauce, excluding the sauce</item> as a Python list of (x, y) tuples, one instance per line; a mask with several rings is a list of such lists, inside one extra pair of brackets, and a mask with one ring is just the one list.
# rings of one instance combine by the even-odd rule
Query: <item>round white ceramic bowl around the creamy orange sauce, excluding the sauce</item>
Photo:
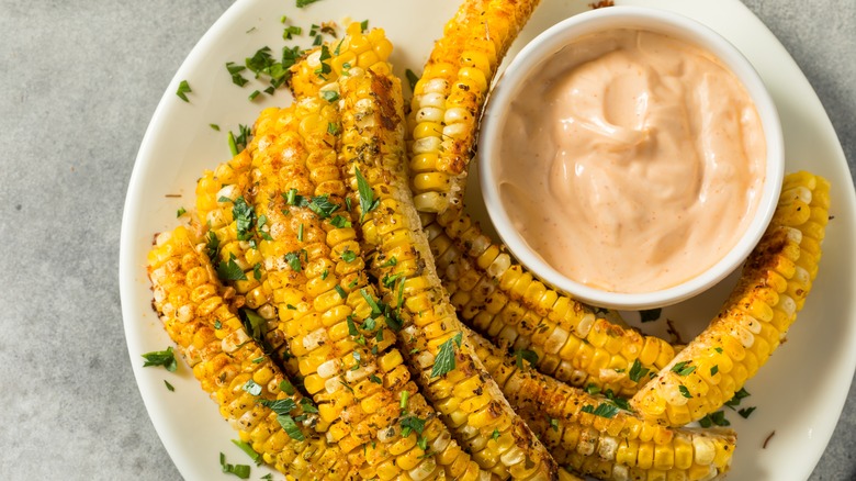
[[(530, 74), (565, 45), (581, 36), (611, 29), (639, 29), (658, 32), (695, 44), (712, 53), (743, 83), (755, 103), (766, 139), (766, 172), (762, 195), (736, 246), (713, 266), (680, 284), (653, 292), (619, 293), (593, 288), (560, 273), (538, 255), (518, 232), (504, 209), (499, 195), (495, 155), (503, 122), (511, 100)], [(566, 19), (532, 40), (509, 64), (491, 93), (482, 120), (478, 142), (478, 169), (482, 193), (499, 236), (517, 259), (536, 276), (575, 299), (590, 304), (643, 310), (661, 307), (689, 299), (712, 287), (734, 271), (761, 239), (776, 209), (785, 171), (785, 147), (776, 105), (761, 77), (746, 58), (711, 29), (676, 13), (638, 7), (610, 7)]]

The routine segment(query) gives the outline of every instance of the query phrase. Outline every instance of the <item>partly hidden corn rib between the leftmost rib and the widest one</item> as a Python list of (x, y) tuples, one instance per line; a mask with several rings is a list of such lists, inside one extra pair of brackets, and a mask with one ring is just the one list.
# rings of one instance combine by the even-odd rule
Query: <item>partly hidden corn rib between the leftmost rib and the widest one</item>
[[(251, 228), (238, 221), (235, 212), (248, 209), (254, 200), (254, 181), (250, 177), (250, 156), (248, 150), (217, 166), (213, 171), (206, 170), (196, 182), (196, 214), (204, 225), (204, 240), (213, 256), (212, 262), (218, 266), (237, 266), (243, 276), (226, 279), (228, 286), (235, 288), (238, 307), (254, 310), (266, 321), (259, 326), (264, 333), (264, 340), (270, 346), (277, 361), (284, 361), (290, 374), (296, 373), (296, 363), (288, 354), (288, 345), (278, 328), (277, 310), (270, 302), (270, 293), (261, 286), (264, 273), (261, 254), (254, 247), (256, 243)], [(258, 222), (257, 222), (258, 224)], [(262, 225), (262, 230), (267, 228)]]

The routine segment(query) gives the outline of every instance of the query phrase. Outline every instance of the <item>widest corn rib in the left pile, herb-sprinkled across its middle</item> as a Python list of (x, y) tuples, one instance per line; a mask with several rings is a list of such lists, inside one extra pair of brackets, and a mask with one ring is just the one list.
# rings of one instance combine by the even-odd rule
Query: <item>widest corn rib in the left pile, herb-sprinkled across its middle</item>
[[(375, 290), (343, 202), (338, 125), (335, 104), (319, 96), (267, 110), (256, 123), (248, 150), (255, 212), (267, 221), (258, 238), (260, 284), (319, 425), (362, 478), (477, 479), (477, 466), (410, 381), (395, 334), (373, 312)], [(405, 430), (409, 417), (425, 427)]]

